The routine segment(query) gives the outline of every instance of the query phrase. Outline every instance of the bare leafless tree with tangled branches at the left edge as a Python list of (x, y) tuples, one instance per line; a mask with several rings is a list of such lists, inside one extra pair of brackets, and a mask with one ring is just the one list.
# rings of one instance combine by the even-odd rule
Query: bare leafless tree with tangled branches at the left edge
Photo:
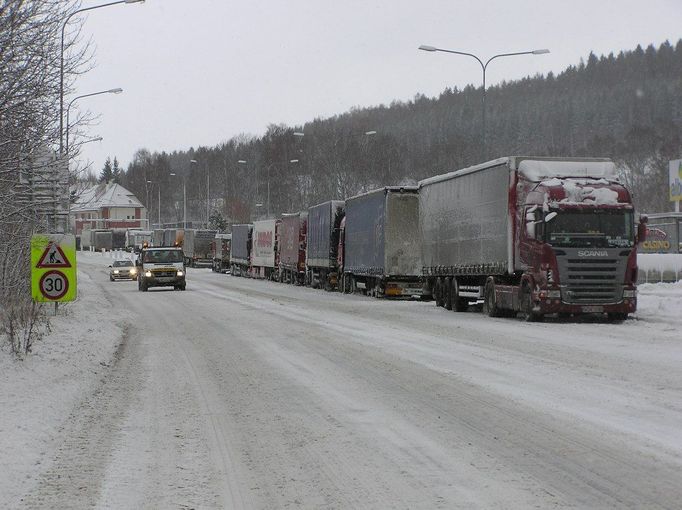
[[(0, 4), (0, 334), (14, 352), (30, 351), (40, 317), (30, 291), (31, 235), (49, 227), (46, 210), (68, 200), (68, 188), (66, 198), (55, 192), (69, 182), (55, 148), (61, 30), (77, 8), (72, 0)], [(63, 47), (66, 90), (87, 51), (77, 49), (78, 33), (71, 26)]]

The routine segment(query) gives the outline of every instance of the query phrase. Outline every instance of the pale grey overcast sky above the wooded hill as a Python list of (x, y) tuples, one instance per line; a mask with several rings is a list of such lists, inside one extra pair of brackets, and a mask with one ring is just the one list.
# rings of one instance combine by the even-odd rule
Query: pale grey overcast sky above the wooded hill
[[(83, 7), (106, 3), (84, 0)], [(303, 124), (354, 106), (480, 86), (475, 60), (418, 51), (420, 44), (497, 53), (489, 85), (561, 72), (597, 55), (672, 44), (682, 37), (680, 0), (147, 0), (83, 16), (96, 67), (75, 95), (98, 115), (82, 162), (107, 156), (127, 167), (139, 148), (212, 146), (271, 123)]]

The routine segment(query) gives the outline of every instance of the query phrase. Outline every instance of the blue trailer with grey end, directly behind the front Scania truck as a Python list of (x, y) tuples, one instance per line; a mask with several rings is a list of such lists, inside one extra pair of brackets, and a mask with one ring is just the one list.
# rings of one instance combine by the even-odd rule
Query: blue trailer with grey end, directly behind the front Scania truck
[(384, 187), (347, 199), (339, 254), (344, 292), (427, 295), (421, 278), (418, 188)]

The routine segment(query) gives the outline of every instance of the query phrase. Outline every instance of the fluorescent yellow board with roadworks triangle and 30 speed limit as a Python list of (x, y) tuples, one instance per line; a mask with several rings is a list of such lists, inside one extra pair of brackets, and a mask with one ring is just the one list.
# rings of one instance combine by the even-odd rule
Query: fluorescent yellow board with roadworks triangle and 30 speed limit
[(35, 301), (76, 299), (76, 239), (70, 234), (31, 238), (31, 294)]

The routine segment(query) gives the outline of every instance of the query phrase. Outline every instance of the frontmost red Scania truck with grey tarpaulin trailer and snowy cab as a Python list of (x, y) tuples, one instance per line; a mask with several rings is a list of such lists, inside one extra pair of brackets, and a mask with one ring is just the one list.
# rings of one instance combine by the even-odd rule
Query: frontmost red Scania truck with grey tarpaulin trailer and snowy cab
[(540, 321), (636, 309), (628, 190), (608, 159), (512, 156), (419, 183), (423, 273), (436, 304)]

